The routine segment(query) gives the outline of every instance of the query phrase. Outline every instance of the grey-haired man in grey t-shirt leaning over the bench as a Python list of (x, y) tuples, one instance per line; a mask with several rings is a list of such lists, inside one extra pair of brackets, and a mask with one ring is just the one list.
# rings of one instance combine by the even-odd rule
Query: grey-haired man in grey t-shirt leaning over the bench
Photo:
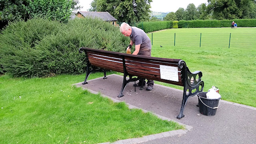
[[(151, 56), (151, 42), (150, 38), (147, 36), (147, 34), (141, 30), (140, 28), (137, 28), (135, 26), (129, 26), (129, 24), (123, 22), (120, 25), (120, 32), (124, 36), (130, 37), (130, 44), (127, 47), (126, 51), (129, 51), (132, 48), (132, 45), (135, 45), (135, 51), (132, 53), (134, 55), (142, 55), (142, 56)], [(148, 79), (147, 79), (148, 80)], [(139, 82), (137, 84), (134, 84), (134, 86), (140, 86), (142, 82)], [(154, 81), (148, 80), (147, 82), (148, 87), (146, 90), (152, 90)], [(146, 85), (145, 80), (143, 81), (143, 86)]]

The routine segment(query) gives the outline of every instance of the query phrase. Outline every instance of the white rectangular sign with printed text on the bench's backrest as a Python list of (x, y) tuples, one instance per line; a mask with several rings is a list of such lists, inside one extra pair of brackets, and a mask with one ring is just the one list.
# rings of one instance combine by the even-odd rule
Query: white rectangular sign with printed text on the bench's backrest
[(160, 65), (160, 78), (164, 80), (172, 80), (178, 82), (178, 68), (174, 66)]

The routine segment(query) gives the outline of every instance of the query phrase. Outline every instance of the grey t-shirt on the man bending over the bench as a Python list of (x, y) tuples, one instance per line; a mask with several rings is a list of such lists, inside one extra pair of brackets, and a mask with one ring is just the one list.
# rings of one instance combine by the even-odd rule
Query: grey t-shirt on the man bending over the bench
[(143, 50), (144, 48), (151, 50), (151, 42), (150, 38), (147, 36), (147, 34), (140, 28), (137, 28), (135, 26), (131, 26), (132, 33), (130, 35), (130, 39), (135, 45), (140, 44), (140, 50)]

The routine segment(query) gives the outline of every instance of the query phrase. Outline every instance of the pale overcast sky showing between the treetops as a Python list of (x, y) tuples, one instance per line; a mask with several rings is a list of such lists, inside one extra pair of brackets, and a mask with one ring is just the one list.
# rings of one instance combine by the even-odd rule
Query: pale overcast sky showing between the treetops
[[(87, 11), (90, 8), (92, 0), (79, 0), (80, 11)], [(150, 3), (153, 12), (176, 12), (178, 8), (187, 8), (188, 4), (194, 4), (196, 7), (202, 3), (208, 4), (207, 0), (153, 0)]]

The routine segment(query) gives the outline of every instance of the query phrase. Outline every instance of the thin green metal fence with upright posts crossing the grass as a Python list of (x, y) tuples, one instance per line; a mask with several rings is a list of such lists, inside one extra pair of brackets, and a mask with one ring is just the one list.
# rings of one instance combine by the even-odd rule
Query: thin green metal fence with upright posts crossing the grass
[(150, 33), (152, 45), (256, 48), (255, 33)]

